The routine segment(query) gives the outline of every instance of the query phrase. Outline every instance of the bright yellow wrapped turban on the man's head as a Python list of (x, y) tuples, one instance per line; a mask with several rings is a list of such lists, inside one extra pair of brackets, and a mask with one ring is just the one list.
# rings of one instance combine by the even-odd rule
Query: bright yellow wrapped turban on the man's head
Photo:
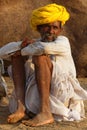
[(62, 25), (69, 19), (69, 13), (66, 8), (57, 4), (48, 4), (32, 12), (31, 26), (37, 30), (37, 25), (61, 21)]

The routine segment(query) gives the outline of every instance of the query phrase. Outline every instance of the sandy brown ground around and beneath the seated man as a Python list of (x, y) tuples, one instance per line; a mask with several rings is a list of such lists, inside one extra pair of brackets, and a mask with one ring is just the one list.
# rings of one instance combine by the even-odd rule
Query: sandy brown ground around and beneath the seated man
[[(8, 85), (8, 94), (10, 95), (12, 91), (12, 81), (5, 77), (5, 80)], [(82, 87), (87, 89), (87, 78), (80, 78), (79, 79)], [(86, 110), (86, 118), (80, 122), (54, 122), (52, 124), (48, 124), (45, 126), (39, 127), (29, 127), (23, 125), (21, 122), (16, 124), (8, 124), (7, 117), (10, 114), (8, 106), (0, 107), (0, 130), (87, 130), (87, 101), (85, 103), (85, 110)]]

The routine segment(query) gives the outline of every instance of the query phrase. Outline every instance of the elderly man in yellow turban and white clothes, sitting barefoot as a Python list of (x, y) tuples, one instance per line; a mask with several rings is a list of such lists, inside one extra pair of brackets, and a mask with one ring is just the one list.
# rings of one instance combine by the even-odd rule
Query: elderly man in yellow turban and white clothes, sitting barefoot
[[(21, 51), (11, 56), (15, 94), (10, 100), (9, 123), (21, 120), (26, 108), (36, 115), (22, 121), (29, 126), (84, 117), (87, 92), (76, 79), (69, 40), (60, 35), (68, 19), (65, 7), (57, 4), (33, 11), (31, 25), (41, 38), (22, 42)], [(26, 63), (25, 56), (29, 56)]]

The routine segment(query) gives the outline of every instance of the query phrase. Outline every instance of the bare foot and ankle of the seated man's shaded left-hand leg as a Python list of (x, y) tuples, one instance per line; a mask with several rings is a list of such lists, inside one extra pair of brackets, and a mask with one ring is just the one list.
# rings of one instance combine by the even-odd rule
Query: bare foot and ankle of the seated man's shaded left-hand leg
[(23, 117), (25, 116), (25, 107), (24, 105), (21, 103), (20, 100), (18, 100), (18, 109), (15, 113), (11, 114), (7, 121), (8, 123), (16, 123), (18, 121), (20, 121)]

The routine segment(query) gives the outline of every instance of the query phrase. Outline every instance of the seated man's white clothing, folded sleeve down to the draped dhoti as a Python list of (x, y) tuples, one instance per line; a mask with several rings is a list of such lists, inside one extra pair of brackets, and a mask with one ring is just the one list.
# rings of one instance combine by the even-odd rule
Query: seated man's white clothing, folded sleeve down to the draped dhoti
[[(22, 55), (48, 54), (53, 64), (51, 90), (49, 95), (51, 112), (55, 120), (81, 120), (85, 117), (83, 100), (87, 100), (87, 92), (76, 79), (76, 70), (71, 55), (69, 40), (65, 36), (58, 36), (54, 42), (37, 41), (21, 50)], [(29, 111), (39, 112), (40, 98), (35, 81), (32, 60), (25, 64), (26, 93), (25, 104)], [(9, 69), (11, 74), (11, 69)], [(15, 94), (9, 105), (10, 111), (17, 109)]]

